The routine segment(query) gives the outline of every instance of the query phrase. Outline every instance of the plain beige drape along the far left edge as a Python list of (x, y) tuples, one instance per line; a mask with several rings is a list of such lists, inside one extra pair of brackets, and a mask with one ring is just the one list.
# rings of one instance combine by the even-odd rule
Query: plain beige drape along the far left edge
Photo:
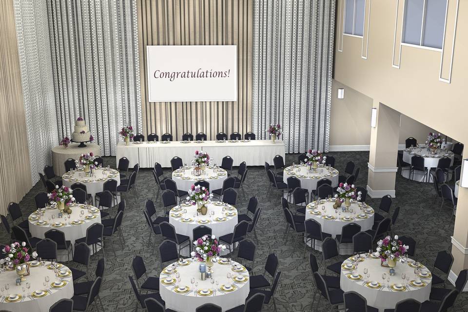
[(0, 213), (31, 189), (20, 66), (11, 0), (0, 1)]

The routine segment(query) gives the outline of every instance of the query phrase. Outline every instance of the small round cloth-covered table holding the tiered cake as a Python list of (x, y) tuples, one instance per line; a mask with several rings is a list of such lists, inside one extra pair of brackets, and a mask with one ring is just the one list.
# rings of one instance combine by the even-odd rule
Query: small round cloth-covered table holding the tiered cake
[(78, 147), (79, 143), (70, 143), (67, 148), (58, 145), (52, 148), (52, 164), (57, 176), (63, 175), (65, 171), (65, 160), (68, 158), (78, 159), (81, 154), (93, 153), (100, 155), (101, 147), (98, 144), (86, 143), (86, 147)]

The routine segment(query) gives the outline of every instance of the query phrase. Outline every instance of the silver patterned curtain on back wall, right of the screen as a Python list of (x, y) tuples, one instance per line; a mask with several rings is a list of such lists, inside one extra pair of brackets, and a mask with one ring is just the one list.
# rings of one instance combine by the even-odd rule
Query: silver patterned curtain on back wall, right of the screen
[(286, 153), (328, 152), (334, 22), (334, 0), (254, 1), (253, 131)]

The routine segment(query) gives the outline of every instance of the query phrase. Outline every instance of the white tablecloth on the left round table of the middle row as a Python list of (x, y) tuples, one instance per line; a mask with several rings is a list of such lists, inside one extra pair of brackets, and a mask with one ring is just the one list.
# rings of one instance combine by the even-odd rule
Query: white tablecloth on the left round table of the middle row
[[(83, 207), (83, 208), (81, 208)], [(93, 206), (90, 206), (93, 207)], [(96, 208), (96, 207), (94, 207)], [(97, 208), (96, 208), (97, 209)], [(70, 215), (70, 222), (73, 220), (79, 220), (80, 219), (80, 212), (84, 211), (84, 216), (88, 215), (88, 210), (86, 209), (85, 205), (78, 205), (75, 207), (71, 207), (72, 213)], [(59, 218), (59, 210), (58, 209), (45, 209), (44, 210), (44, 216), (43, 220), (48, 222), (47, 225), (37, 225), (38, 220), (31, 220), (30, 217), (32, 215), (36, 215), (34, 212), (29, 216), (29, 231), (31, 232), (31, 235), (33, 237), (39, 237), (39, 238), (44, 238), (45, 232), (51, 230), (51, 229), (57, 229), (59, 231), (62, 231), (65, 233), (65, 239), (70, 240), (72, 243), (72, 249), (75, 250), (75, 240), (81, 237), (86, 236), (86, 230), (93, 225), (94, 223), (101, 223), (101, 215), (100, 213), (96, 213), (96, 218), (94, 219), (83, 219), (82, 224), (78, 225), (72, 225), (72, 224), (66, 224), (65, 219), (62, 217), (61, 219)], [(52, 217), (52, 215), (55, 215), (54, 221), (49, 221), (49, 217)], [(53, 222), (61, 222), (65, 223), (64, 226), (61, 227), (53, 227), (51, 223)], [(68, 261), (68, 255), (65, 251), (58, 251), (58, 261)], [(70, 255), (71, 257), (71, 255)]]

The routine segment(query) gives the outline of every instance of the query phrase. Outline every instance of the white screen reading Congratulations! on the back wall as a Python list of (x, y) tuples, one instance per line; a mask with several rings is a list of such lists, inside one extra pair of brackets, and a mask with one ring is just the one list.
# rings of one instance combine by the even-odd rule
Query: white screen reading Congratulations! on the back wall
[(148, 45), (146, 58), (149, 102), (237, 101), (235, 45)]

